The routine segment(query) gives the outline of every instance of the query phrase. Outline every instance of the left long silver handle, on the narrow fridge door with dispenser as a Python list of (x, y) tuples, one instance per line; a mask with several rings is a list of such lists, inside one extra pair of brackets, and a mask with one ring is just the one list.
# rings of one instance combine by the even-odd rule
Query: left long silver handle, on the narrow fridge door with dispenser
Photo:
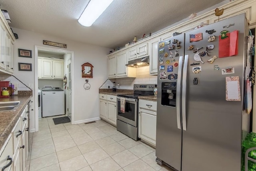
[(179, 67), (178, 67), (178, 78), (177, 78), (177, 89), (176, 89), (176, 93), (178, 94), (178, 96), (176, 96), (176, 108), (177, 108), (177, 126), (178, 129), (181, 130), (181, 122), (180, 122), (180, 95), (181, 95), (181, 73), (182, 73), (182, 61), (183, 60), (183, 56), (180, 56), (179, 59)]

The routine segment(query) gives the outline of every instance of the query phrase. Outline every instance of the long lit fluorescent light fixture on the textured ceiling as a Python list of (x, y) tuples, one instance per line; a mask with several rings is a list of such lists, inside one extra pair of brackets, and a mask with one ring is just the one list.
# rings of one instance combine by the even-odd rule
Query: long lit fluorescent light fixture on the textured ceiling
[(90, 0), (84, 12), (78, 19), (78, 23), (85, 27), (90, 27), (99, 16), (108, 8), (113, 0)]

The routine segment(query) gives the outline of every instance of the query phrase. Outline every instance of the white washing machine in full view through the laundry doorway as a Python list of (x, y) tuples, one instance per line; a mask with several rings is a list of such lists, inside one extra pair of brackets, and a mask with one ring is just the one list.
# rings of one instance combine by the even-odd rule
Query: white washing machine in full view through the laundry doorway
[(42, 117), (65, 114), (65, 93), (59, 87), (42, 88)]

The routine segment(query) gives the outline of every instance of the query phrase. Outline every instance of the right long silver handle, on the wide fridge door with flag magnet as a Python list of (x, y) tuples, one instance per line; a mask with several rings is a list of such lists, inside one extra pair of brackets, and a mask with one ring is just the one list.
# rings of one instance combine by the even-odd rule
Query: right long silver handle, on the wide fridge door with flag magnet
[(186, 88), (187, 88), (187, 71), (188, 71), (188, 55), (184, 58), (184, 68), (183, 68), (183, 83), (182, 83), (182, 129), (187, 130), (187, 118), (186, 118)]

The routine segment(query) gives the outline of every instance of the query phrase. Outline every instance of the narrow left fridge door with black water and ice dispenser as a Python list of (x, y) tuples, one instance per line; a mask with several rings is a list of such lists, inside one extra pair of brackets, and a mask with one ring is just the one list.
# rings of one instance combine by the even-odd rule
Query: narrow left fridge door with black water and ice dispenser
[[(180, 48), (177, 48), (179, 46)], [(180, 171), (182, 147), (180, 95), (184, 34), (160, 42), (158, 51), (156, 157)]]

